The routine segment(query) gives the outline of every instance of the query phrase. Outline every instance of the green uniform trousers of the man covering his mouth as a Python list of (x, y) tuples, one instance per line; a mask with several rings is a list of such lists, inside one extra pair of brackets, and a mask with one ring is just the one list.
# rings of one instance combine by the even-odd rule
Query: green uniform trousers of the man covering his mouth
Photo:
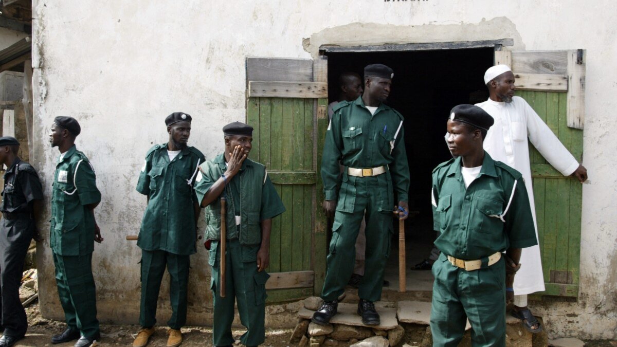
[(242, 246), (238, 239), (228, 240), (225, 252), (225, 298), (220, 296), (220, 259), (218, 241), (210, 245), (209, 264), (212, 265), (212, 298), (214, 323), (212, 342), (215, 346), (233, 345), (231, 323), (234, 301), (238, 301), (240, 322), (247, 328), (240, 341), (246, 346), (258, 346), (265, 340), (265, 284), (270, 277), (257, 272), (257, 246)]

